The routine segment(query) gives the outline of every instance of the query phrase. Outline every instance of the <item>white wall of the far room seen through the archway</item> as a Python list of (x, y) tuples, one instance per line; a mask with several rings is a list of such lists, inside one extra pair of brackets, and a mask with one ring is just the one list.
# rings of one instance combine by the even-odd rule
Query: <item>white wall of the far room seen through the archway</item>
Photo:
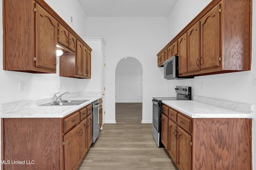
[(116, 103), (142, 102), (142, 65), (134, 57), (122, 58), (116, 66)]

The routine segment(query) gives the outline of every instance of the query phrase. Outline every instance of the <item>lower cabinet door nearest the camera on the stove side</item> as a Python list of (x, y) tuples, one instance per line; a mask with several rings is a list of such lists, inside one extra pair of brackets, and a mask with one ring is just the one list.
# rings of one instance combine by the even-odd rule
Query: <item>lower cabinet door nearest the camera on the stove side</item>
[(180, 170), (191, 170), (191, 136), (182, 128), (177, 127), (177, 162)]

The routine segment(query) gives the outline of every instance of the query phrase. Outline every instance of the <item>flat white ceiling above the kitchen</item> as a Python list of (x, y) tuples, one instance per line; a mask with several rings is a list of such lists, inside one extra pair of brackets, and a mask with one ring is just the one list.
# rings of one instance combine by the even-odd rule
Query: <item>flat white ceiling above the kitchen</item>
[(178, 0), (78, 0), (88, 17), (168, 17)]

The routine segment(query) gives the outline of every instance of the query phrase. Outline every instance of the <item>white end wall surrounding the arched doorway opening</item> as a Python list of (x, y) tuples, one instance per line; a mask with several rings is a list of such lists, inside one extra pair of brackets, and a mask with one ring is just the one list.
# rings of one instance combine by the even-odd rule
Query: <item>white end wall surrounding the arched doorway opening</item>
[(87, 21), (87, 36), (106, 41), (106, 123), (116, 122), (115, 69), (118, 61), (127, 56), (142, 64), (142, 122), (152, 122), (152, 96), (164, 95), (167, 89), (156, 57), (168, 43), (167, 18), (88, 17)]

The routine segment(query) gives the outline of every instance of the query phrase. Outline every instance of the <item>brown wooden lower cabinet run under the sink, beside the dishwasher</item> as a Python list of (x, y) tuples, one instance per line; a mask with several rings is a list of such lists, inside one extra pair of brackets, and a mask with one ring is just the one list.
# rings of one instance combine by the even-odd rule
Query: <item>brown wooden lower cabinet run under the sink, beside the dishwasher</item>
[(76, 170), (92, 144), (92, 114), (64, 118), (3, 118), (2, 170)]

